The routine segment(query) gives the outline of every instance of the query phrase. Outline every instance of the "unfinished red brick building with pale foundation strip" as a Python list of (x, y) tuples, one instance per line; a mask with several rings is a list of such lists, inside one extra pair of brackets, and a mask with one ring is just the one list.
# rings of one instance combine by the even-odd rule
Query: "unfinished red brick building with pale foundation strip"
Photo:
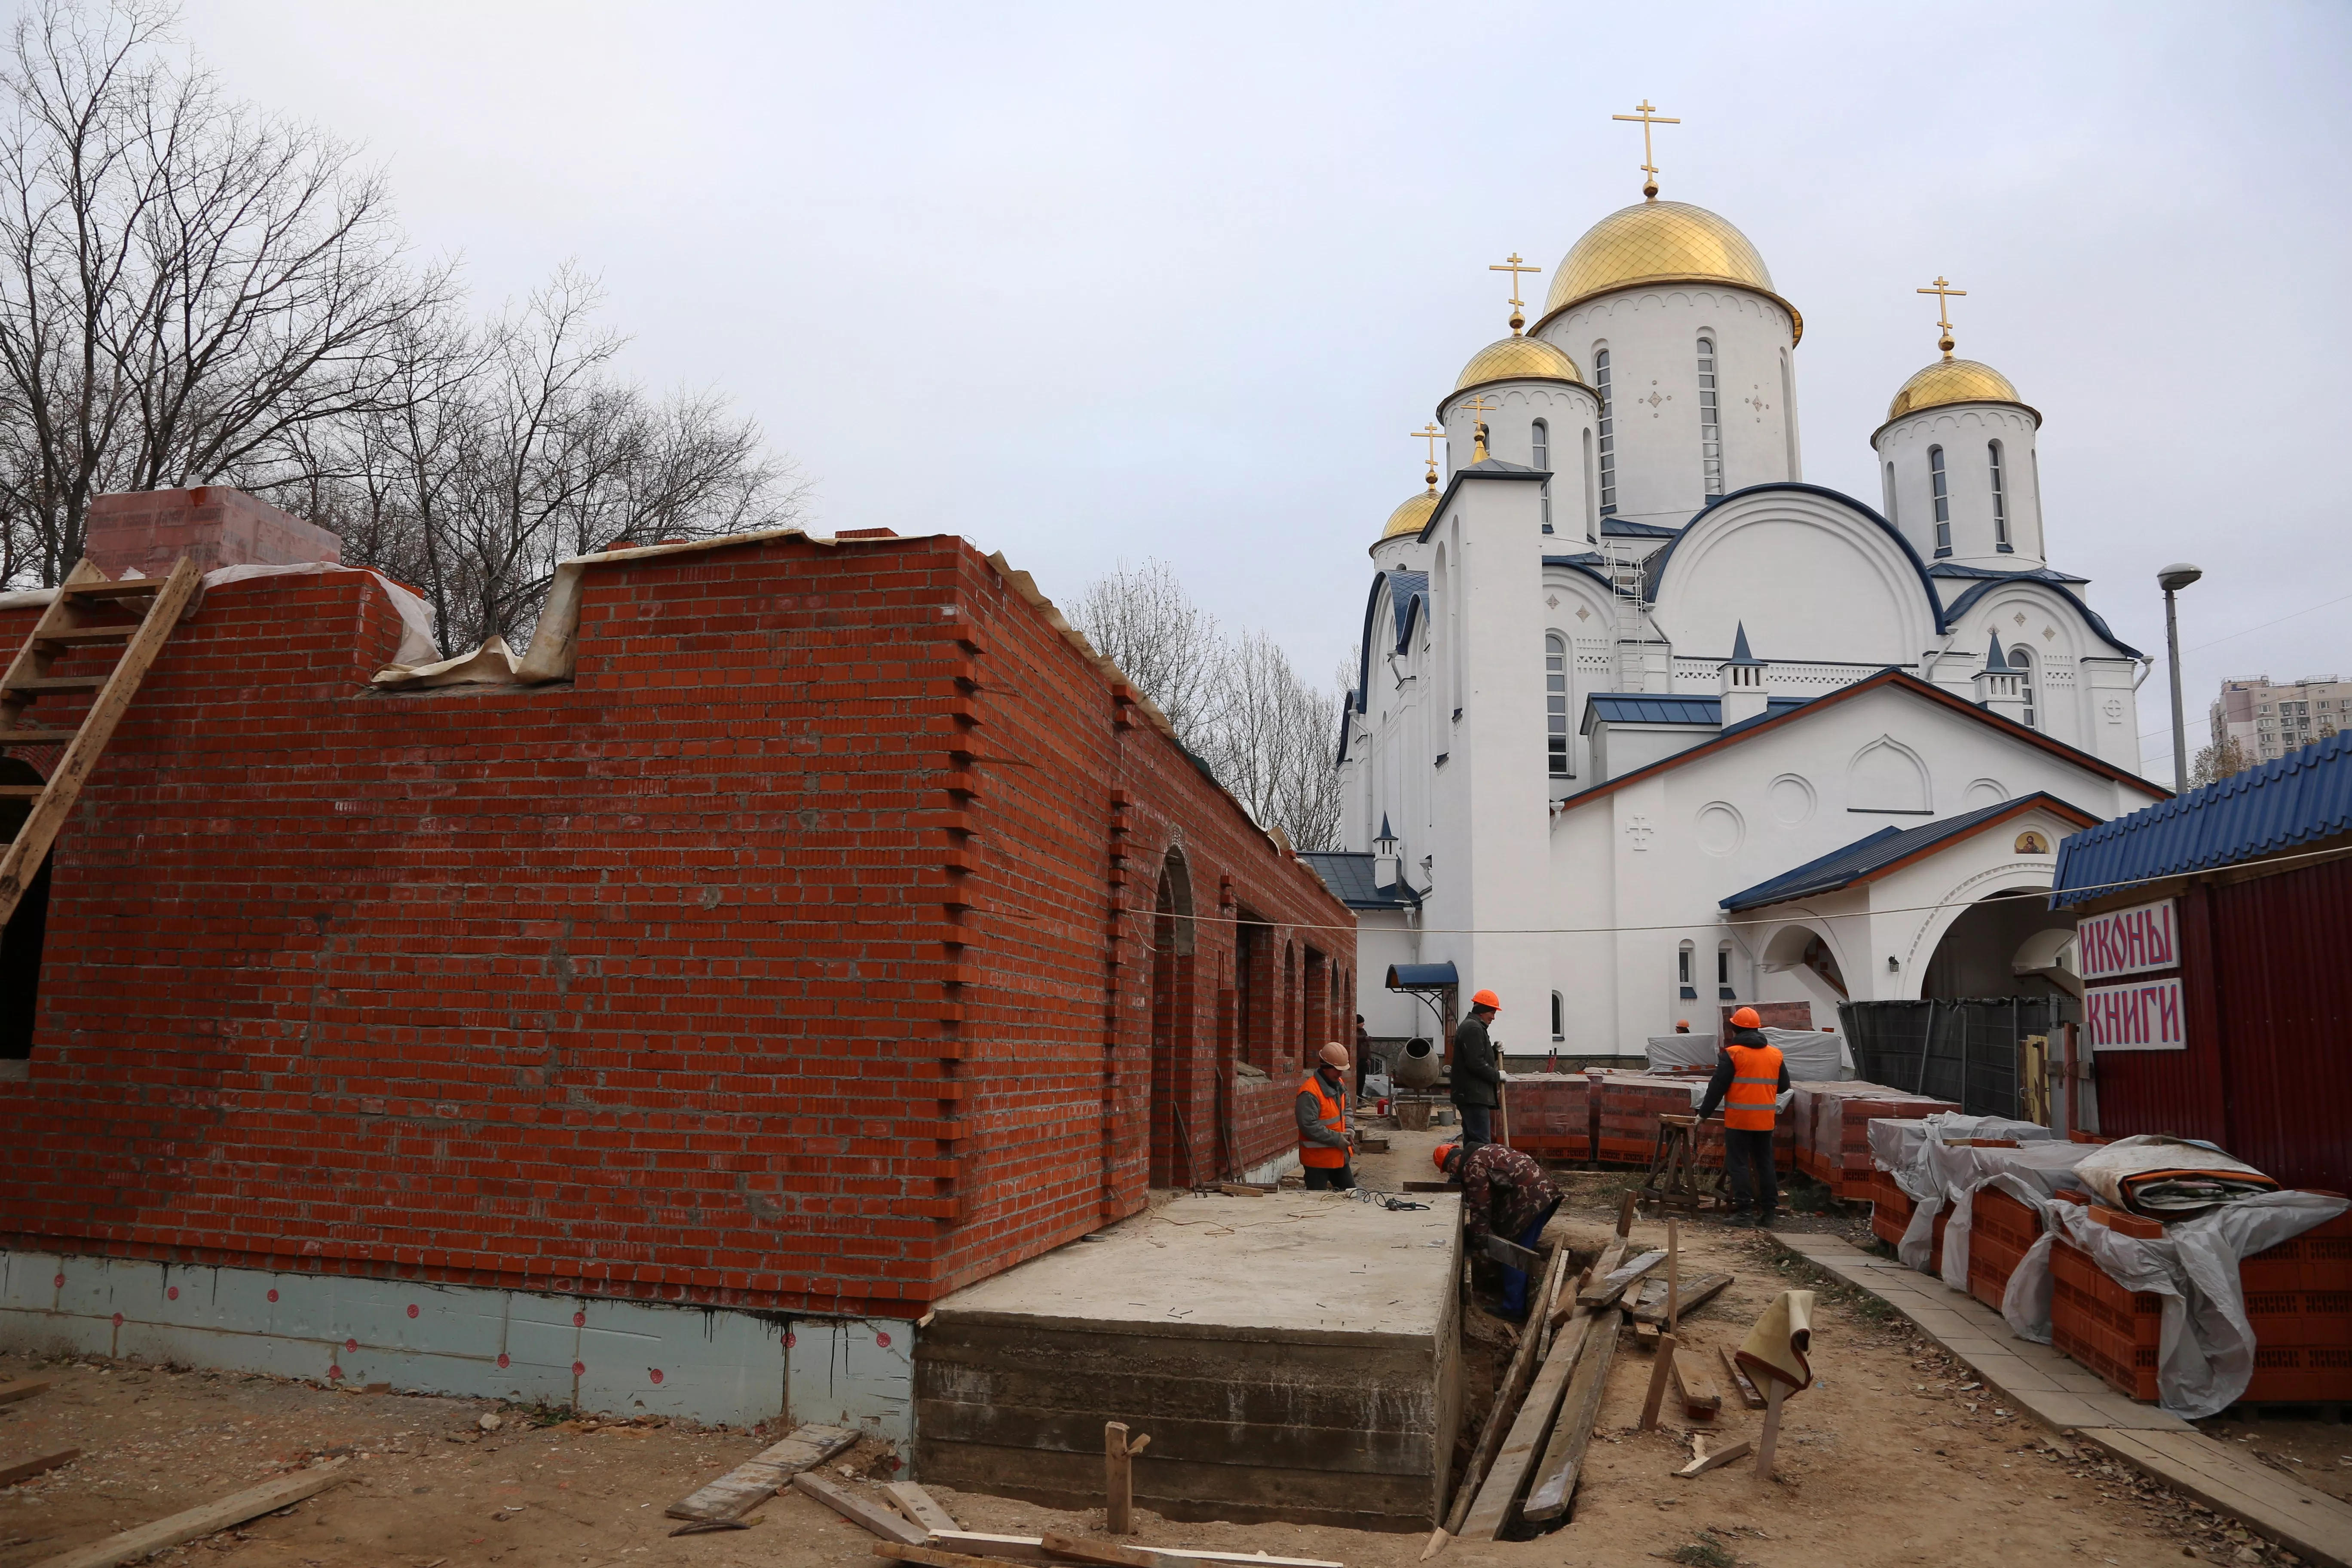
[(1282, 1161), (1350, 1039), (1350, 914), (960, 538), (614, 550), (520, 665), (405, 642), (372, 571), (216, 571), (129, 705), (9, 926), (7, 1340), (727, 1418), (790, 1361), (891, 1429), (908, 1319)]

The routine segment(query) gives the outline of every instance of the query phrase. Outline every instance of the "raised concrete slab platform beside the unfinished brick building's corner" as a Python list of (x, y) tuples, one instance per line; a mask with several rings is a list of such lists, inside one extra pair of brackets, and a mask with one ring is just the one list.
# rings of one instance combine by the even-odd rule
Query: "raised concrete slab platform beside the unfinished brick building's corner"
[(1461, 1418), (1458, 1199), (1176, 1197), (946, 1298), (915, 1352), (924, 1481), (1101, 1507), (1103, 1422), (1169, 1519), (1425, 1530)]

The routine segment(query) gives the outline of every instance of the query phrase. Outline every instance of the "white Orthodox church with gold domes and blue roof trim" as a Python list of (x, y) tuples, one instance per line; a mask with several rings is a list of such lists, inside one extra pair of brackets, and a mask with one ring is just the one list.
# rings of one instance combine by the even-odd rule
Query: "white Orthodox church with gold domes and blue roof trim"
[(1392, 964), (1496, 990), (1512, 1056), (2051, 994), (2058, 839), (2166, 790), (2145, 661), (2049, 564), (2042, 414), (1940, 313), (1870, 435), (1879, 496), (1806, 484), (1804, 317), (1738, 228), (1646, 190), (1470, 355), (1449, 480), (1432, 456), (1371, 545), (1348, 853), (1312, 856), (1371, 1032), (1432, 1032)]

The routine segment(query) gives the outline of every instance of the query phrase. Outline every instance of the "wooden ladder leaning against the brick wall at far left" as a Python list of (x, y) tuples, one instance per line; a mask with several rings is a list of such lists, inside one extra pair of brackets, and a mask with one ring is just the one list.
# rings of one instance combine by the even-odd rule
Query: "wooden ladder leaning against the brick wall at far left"
[[(40, 872), (59, 827), (73, 813), (82, 785), (115, 733), (122, 710), (132, 705), (148, 665), (162, 654), (165, 639), (195, 602), (205, 574), (186, 555), (160, 578), (108, 581), (85, 557), (56, 588), (56, 599), (33, 623), (33, 635), (16, 649), (16, 661), (0, 677), (0, 748), (64, 745), (47, 783), (0, 785), (0, 799), (31, 799), (33, 809), (0, 856), (0, 926), (16, 912), (16, 900)], [(106, 611), (132, 611), (136, 621), (106, 618)], [(49, 675), (64, 654), (75, 649), (120, 649), (106, 675)], [(94, 691), (82, 722), (73, 729), (26, 724), (24, 710), (45, 696)]]

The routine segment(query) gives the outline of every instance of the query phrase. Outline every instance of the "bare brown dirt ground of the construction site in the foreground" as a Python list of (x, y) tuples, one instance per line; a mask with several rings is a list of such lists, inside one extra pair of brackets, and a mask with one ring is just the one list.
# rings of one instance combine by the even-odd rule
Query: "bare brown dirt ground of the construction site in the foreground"
[[(1428, 1140), (1369, 1157), (1364, 1178), (1395, 1187), (1428, 1171)], [(1418, 1159), (1418, 1168), (1414, 1161)], [(1564, 1178), (1569, 1204), (1555, 1234), (1599, 1246), (1623, 1175)], [(1851, 1225), (1828, 1215), (1823, 1225)], [(1642, 1220), (1637, 1241), (1663, 1241)], [(1769, 1237), (1717, 1220), (1684, 1225), (1693, 1274), (1738, 1284), (1686, 1319), (1686, 1338), (1712, 1356), (1736, 1345), (1785, 1286), (1813, 1286), (1818, 1382), (1788, 1406), (1780, 1476), (1757, 1481), (1733, 1465), (1682, 1481), (1686, 1422), (1637, 1432), (1651, 1356), (1630, 1340), (1611, 1371), (1590, 1474), (1573, 1521), (1536, 1542), (1454, 1544), (1439, 1563), (1595, 1563), (1700, 1568), (1938, 1563), (2147, 1563), (2293, 1559), (2244, 1540), (2211, 1514), (2103, 1465), (2096, 1450), (2044, 1432), (1973, 1387), (1872, 1298), (1820, 1279)], [(1491, 1385), (1510, 1331), (1470, 1314), (1472, 1392)], [(174, 1371), (129, 1361), (0, 1356), (0, 1380), (45, 1375), (52, 1387), (0, 1406), (0, 1467), (78, 1446), (82, 1458), (0, 1488), (0, 1568), (38, 1563), (118, 1528), (209, 1502), (287, 1469), (339, 1458), (350, 1479), (285, 1514), (256, 1519), (165, 1554), (169, 1563), (228, 1568), (677, 1563), (689, 1568), (868, 1563), (870, 1537), (823, 1507), (783, 1495), (750, 1530), (673, 1537), (661, 1509), (757, 1453), (776, 1434), (696, 1429), (682, 1422), (595, 1425), (492, 1401), (346, 1394), (238, 1373)], [(1477, 1399), (1484, 1403), (1484, 1396)], [(499, 1415), (482, 1432), (482, 1415)], [(1482, 1413), (1482, 1410), (1479, 1410)], [(1726, 1410), (1722, 1441), (1755, 1436), (1762, 1415)], [(1141, 1422), (1148, 1429), (1148, 1420)], [(2220, 1436), (2274, 1453), (2274, 1462), (2345, 1493), (2345, 1429), (2223, 1422)], [(1475, 1436), (1475, 1432), (1470, 1434)], [(891, 1458), (851, 1455), (866, 1479), (889, 1479)], [(967, 1528), (1035, 1535), (1101, 1528), (1101, 1514), (1065, 1514), (1002, 1497), (938, 1493)], [(1167, 1523), (1138, 1516), (1150, 1544), (1317, 1556), (1350, 1568), (1409, 1568), (1421, 1535), (1308, 1526)]]

